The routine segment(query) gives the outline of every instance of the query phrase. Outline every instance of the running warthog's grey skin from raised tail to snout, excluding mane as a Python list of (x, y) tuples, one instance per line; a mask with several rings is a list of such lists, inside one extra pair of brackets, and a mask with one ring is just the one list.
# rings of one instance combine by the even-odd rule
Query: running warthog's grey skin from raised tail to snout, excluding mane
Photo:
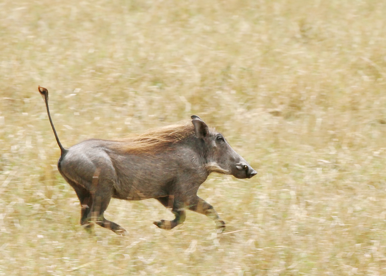
[(198, 116), (191, 116), (194, 135), (153, 154), (130, 154), (116, 150), (114, 143), (91, 139), (65, 149), (56, 134), (44, 96), (49, 121), (61, 149), (58, 170), (74, 188), (81, 204), (80, 224), (86, 229), (94, 223), (124, 235), (125, 229), (105, 219), (103, 212), (110, 199), (157, 199), (175, 215), (173, 220), (154, 222), (161, 229), (172, 229), (185, 220), (185, 209), (207, 215), (222, 231), (225, 223), (197, 190), (210, 172), (251, 178), (257, 172), (236, 153), (220, 133), (210, 131)]

